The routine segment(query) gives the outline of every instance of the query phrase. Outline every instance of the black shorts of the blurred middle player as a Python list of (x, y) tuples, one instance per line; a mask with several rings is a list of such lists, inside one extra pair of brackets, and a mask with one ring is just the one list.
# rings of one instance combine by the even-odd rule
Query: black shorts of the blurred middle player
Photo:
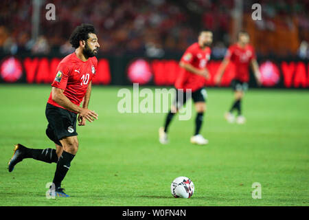
[(185, 91), (179, 91), (178, 89), (176, 89), (176, 98), (174, 99), (174, 106), (177, 107), (177, 109), (180, 109), (185, 102), (187, 102), (187, 100), (190, 99), (190, 97), (192, 98), (192, 100), (194, 101), (194, 103), (196, 102), (206, 102), (207, 100), (207, 91), (205, 88), (201, 88), (198, 89), (194, 92), (190, 94), (187, 94)]

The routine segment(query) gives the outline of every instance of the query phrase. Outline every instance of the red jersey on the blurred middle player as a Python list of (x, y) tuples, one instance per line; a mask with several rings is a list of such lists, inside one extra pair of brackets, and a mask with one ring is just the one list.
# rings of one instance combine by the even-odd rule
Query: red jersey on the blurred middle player
[[(205, 69), (207, 62), (210, 59), (211, 49), (209, 47), (205, 47), (203, 50), (198, 43), (192, 44), (187, 48), (181, 61), (183, 63), (190, 63), (192, 66), (197, 69)], [(175, 87), (176, 89), (192, 89), (196, 91), (201, 89), (205, 85), (205, 77), (194, 74), (192, 72), (188, 72), (184, 68), (181, 68), (181, 72), (179, 76), (176, 78)]]

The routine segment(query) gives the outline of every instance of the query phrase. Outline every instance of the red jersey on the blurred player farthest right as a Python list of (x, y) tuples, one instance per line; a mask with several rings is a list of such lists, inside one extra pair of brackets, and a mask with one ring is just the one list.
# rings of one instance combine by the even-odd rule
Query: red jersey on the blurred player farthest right
[(255, 52), (251, 45), (240, 47), (237, 43), (231, 45), (225, 54), (226, 58), (229, 58), (236, 66), (237, 80), (241, 82), (249, 81), (249, 63), (255, 58)]

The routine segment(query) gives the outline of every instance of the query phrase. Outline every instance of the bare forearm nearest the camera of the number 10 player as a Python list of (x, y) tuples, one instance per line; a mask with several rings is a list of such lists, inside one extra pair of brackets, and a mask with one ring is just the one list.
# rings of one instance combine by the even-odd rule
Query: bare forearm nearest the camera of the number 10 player
[(52, 87), (52, 100), (69, 111), (80, 113), (80, 109), (82, 108), (76, 104), (73, 104), (73, 102), (71, 102), (69, 98), (63, 94), (63, 91), (63, 89)]

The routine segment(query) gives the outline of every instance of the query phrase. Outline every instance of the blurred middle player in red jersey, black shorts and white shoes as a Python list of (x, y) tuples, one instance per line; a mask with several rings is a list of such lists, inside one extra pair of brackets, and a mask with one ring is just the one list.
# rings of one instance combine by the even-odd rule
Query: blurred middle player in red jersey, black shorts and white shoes
[[(181, 72), (176, 78), (176, 98), (171, 110), (165, 118), (165, 125), (159, 129), (159, 142), (168, 143), (168, 126), (174, 114), (185, 104), (188, 98), (192, 97), (197, 112), (195, 120), (195, 131), (191, 137), (192, 144), (208, 144), (203, 135), (200, 134), (203, 123), (203, 115), (206, 109), (207, 93), (204, 89), (205, 78), (209, 78), (206, 68), (209, 61), (212, 43), (212, 32), (202, 31), (198, 36), (198, 42), (187, 48), (179, 63)], [(191, 96), (188, 96), (190, 94)]]

